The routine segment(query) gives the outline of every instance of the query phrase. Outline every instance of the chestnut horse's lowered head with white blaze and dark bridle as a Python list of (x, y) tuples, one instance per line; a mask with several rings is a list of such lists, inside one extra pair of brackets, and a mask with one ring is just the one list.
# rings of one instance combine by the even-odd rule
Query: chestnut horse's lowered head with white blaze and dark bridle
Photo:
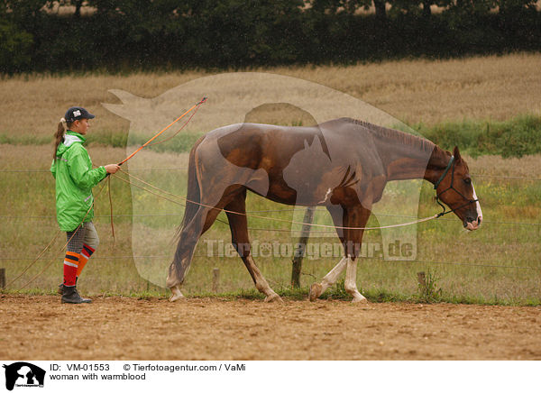
[[(436, 181), (436, 200), (442, 200), (462, 220), (469, 231), (481, 226), (482, 212), (468, 164), (455, 147), (448, 165)], [(441, 204), (440, 204), (441, 205)]]

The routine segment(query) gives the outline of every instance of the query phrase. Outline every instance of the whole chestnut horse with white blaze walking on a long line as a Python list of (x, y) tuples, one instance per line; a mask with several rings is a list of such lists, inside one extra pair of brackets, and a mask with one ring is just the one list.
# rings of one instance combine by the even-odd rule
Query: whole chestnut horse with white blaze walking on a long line
[[(481, 225), (466, 162), (433, 142), (408, 133), (349, 118), (313, 127), (240, 123), (207, 133), (192, 148), (188, 166), (188, 205), (167, 286), (171, 301), (188, 273), (200, 236), (224, 209), (232, 242), (265, 301), (281, 300), (250, 253), (246, 190), (275, 202), (326, 206), (344, 246), (345, 257), (310, 288), (315, 300), (346, 270), (345, 289), (353, 302), (366, 301), (356, 287), (362, 229), (372, 205), (391, 180), (424, 178), (436, 185), (437, 199), (449, 206), (468, 230)], [(235, 214), (237, 213), (237, 214)]]

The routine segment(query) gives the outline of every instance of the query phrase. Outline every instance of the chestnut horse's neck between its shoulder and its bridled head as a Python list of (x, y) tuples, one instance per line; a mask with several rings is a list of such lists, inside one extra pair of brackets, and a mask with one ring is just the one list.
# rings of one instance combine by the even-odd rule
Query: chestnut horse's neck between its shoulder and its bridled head
[(436, 144), (432, 151), (402, 142), (380, 143), (378, 149), (388, 181), (424, 178), (434, 184), (449, 161), (448, 154)]

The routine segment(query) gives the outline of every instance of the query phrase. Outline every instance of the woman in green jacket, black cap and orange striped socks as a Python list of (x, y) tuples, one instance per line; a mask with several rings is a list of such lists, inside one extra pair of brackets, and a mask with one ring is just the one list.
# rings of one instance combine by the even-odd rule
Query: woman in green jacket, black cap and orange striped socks
[[(90, 303), (92, 300), (80, 297), (77, 279), (88, 258), (99, 244), (94, 217), (92, 187), (103, 180), (107, 173), (115, 173), (116, 164), (92, 169), (92, 161), (83, 143), (87, 141), (94, 114), (80, 106), (68, 109), (60, 119), (55, 133), (55, 148), (50, 171), (56, 179), (56, 209), (60, 229), (67, 233), (68, 247), (64, 258), (64, 282), (60, 284), (62, 303)], [(64, 132), (64, 125), (68, 130)]]

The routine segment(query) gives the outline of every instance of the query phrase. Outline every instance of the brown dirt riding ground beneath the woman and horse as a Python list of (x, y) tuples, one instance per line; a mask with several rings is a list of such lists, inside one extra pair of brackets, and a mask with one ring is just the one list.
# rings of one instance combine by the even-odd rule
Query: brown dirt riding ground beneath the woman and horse
[(10, 360), (541, 360), (541, 307), (0, 295)]

